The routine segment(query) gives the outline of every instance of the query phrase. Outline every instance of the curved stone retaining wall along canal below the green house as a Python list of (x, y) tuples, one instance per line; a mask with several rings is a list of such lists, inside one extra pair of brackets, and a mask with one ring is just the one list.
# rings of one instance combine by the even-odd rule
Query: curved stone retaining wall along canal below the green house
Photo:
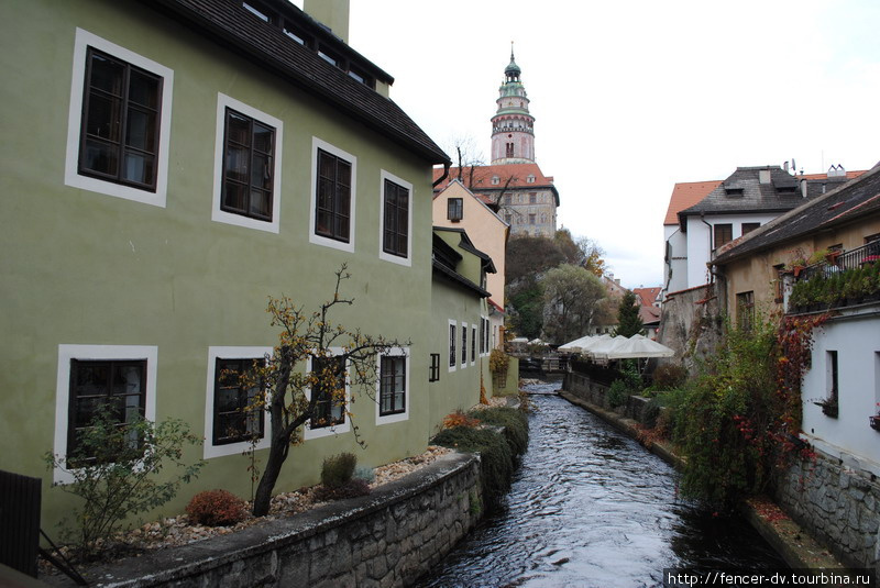
[[(482, 512), (480, 462), (449, 454), (376, 488), (295, 517), (86, 570), (96, 587), (405, 587)], [(64, 576), (41, 578), (75, 586)]]

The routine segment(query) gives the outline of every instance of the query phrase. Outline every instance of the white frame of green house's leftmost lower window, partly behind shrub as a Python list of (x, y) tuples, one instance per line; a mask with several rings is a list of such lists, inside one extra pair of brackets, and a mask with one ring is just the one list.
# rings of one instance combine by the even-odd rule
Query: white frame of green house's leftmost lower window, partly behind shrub
[[(146, 389), (144, 390), (144, 418), (156, 420), (156, 366), (158, 347), (155, 345), (58, 345), (58, 368), (55, 384), (55, 440), (53, 452), (62, 462), (67, 458), (67, 432), (70, 422), (70, 360), (145, 360)], [(54, 468), (55, 484), (70, 484), (74, 476), (59, 467)]]

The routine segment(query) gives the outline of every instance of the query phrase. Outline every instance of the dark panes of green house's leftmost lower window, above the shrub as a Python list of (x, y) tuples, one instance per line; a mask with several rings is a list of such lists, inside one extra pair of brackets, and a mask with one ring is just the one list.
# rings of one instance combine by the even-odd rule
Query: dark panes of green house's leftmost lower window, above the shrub
[(80, 435), (99, 413), (120, 425), (144, 415), (146, 362), (70, 359), (69, 399), (67, 455), (72, 456)]

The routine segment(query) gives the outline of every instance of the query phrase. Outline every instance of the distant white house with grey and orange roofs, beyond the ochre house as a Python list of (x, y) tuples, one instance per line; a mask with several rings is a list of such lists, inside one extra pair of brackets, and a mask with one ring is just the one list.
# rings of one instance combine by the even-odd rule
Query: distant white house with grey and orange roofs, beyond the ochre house
[(794, 176), (778, 166), (738, 167), (727, 179), (676, 184), (663, 221), (663, 297), (712, 281), (718, 247), (864, 171), (833, 166)]

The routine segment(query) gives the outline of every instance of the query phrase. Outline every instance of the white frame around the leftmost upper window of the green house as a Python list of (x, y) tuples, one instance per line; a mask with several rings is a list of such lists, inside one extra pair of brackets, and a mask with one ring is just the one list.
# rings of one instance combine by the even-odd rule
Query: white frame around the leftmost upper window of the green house
[[(82, 96), (86, 85), (86, 55), (89, 47), (128, 62), (162, 78), (162, 107), (160, 110), (158, 155), (156, 156), (156, 191), (123, 186), (113, 181), (84, 176), (79, 173), (79, 148), (82, 129)], [(174, 70), (111, 43), (82, 29), (76, 30), (74, 41), (74, 67), (70, 82), (70, 110), (67, 114), (67, 153), (64, 167), (64, 184), (90, 192), (102, 193), (142, 204), (165, 208), (168, 191), (168, 147), (172, 130), (172, 97), (174, 95)]]

